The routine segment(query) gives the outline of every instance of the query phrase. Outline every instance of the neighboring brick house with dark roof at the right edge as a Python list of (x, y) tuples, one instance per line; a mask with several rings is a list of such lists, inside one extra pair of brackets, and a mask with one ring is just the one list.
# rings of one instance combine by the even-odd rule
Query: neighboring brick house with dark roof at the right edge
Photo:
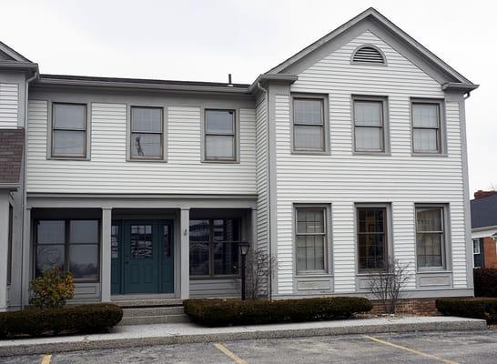
[(473, 267), (497, 268), (497, 192), (479, 190), (471, 204)]

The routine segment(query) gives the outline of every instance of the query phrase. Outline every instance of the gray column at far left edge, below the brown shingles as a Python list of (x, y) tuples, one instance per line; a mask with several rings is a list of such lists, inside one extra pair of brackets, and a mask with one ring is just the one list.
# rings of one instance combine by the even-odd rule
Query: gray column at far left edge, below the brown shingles
[(0, 312), (7, 309), (7, 266), (9, 234), (8, 192), (0, 191)]

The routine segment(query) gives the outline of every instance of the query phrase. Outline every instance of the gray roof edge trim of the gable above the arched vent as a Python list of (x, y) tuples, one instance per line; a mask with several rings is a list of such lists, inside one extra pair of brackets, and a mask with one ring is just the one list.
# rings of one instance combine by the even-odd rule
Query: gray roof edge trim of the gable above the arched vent
[[(389, 33), (391, 33), (391, 35), (395, 36), (403, 44), (409, 46), (411, 50), (419, 54), (424, 61), (430, 64), (430, 66), (437, 67), (440, 71), (450, 76), (452, 78), (451, 79), (452, 82), (448, 82), (445, 88), (451, 88), (453, 85), (450, 84), (452, 83), (458, 84), (459, 85), (458, 88), (460, 89), (463, 88), (471, 90), (478, 87), (478, 85), (474, 85), (469, 79), (462, 76), (451, 66), (447, 65), (445, 62), (441, 60), (441, 58), (435, 56), (433, 53), (431, 53), (430, 50), (428, 50), (426, 47), (424, 47), (418, 41), (412, 38), (411, 35), (405, 33), (403, 30), (401, 30), (400, 27), (393, 24), (388, 18), (386, 18), (384, 15), (381, 15), (378, 10), (372, 7), (363, 11), (362, 13), (360, 13), (360, 15), (357, 15), (354, 18), (350, 19), (350, 21), (348, 21), (347, 23), (340, 25), (338, 28), (331, 31), (328, 35), (324, 35), (319, 40), (305, 47), (294, 56), (290, 56), (286, 61), (280, 63), (278, 66), (271, 68), (266, 74), (278, 74), (278, 73), (287, 72), (289, 66), (296, 64), (297, 62), (302, 60), (302, 58), (309, 56), (311, 53), (318, 50), (322, 45), (328, 44), (329, 42), (336, 39), (339, 35), (342, 35), (344, 32), (350, 30), (356, 25), (359, 25), (362, 21), (366, 19), (375, 21), (380, 25), (382, 25), (383, 27), (385, 27), (389, 31)], [(461, 84), (463, 84), (464, 87), (462, 87)]]

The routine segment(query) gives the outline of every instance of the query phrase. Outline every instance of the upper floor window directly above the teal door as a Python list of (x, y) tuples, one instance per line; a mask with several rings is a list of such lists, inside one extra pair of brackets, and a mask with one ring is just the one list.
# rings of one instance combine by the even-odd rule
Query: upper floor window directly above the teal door
[(162, 159), (162, 107), (131, 107), (132, 159)]

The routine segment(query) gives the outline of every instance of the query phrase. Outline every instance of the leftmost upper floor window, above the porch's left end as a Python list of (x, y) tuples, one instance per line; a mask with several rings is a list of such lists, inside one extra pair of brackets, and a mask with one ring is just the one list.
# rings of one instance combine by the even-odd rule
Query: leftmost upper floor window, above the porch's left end
[(52, 105), (52, 157), (86, 157), (86, 105)]

